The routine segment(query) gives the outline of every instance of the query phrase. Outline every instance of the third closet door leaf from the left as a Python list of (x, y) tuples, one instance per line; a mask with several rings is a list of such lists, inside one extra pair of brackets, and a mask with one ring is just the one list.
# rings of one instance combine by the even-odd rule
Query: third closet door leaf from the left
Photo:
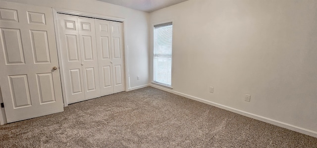
[(101, 96), (106, 96), (113, 94), (110, 22), (95, 19), (95, 24), (100, 76), (100, 94)]

